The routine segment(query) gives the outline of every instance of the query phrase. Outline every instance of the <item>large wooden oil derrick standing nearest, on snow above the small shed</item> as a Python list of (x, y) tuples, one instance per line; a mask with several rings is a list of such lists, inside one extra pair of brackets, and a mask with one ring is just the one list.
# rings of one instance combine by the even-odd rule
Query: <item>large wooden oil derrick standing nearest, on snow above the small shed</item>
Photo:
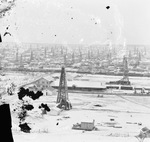
[(70, 110), (72, 108), (71, 103), (68, 98), (65, 67), (62, 67), (61, 69), (60, 82), (59, 82), (58, 95), (57, 95), (57, 103), (58, 103), (57, 107), (64, 109), (64, 110)]

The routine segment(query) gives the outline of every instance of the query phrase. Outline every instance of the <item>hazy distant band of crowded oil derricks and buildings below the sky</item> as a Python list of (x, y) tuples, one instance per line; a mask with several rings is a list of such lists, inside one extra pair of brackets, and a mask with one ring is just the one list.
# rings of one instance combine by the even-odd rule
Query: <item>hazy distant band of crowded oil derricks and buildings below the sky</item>
[(9, 71), (123, 75), (123, 58), (129, 76), (150, 76), (149, 46), (1, 43), (0, 69)]

